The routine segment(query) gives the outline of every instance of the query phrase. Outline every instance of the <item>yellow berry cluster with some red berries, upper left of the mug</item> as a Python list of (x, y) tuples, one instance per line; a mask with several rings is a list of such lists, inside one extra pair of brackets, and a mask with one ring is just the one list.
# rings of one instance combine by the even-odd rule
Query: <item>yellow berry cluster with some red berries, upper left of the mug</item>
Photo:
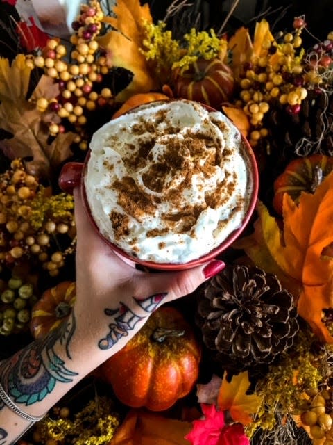
[(71, 35), (71, 62), (67, 62), (67, 48), (60, 40), (49, 40), (42, 54), (34, 58), (36, 67), (58, 83), (60, 95), (52, 99), (40, 97), (37, 109), (53, 113), (49, 133), (56, 136), (71, 129), (76, 133), (75, 143), (87, 149), (85, 124), (87, 115), (96, 108), (113, 103), (110, 88), (101, 88), (103, 76), (109, 73), (111, 64), (105, 51), (99, 48), (96, 37), (102, 29), (103, 11), (97, 0), (80, 7), (80, 15), (73, 22)]

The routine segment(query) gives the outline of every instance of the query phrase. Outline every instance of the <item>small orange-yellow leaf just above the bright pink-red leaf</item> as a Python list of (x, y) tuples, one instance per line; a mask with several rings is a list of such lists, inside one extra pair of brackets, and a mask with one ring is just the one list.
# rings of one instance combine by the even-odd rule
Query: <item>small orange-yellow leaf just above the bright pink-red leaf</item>
[(249, 387), (248, 371), (234, 375), (231, 382), (224, 375), (217, 399), (219, 409), (228, 410), (232, 419), (244, 426), (251, 423), (252, 415), (262, 404), (262, 399), (257, 394), (246, 394)]

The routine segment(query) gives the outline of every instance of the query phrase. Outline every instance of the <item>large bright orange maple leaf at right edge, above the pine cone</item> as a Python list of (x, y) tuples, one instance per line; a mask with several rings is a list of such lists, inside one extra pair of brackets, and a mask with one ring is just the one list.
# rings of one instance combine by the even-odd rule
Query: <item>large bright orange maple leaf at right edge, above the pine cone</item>
[[(333, 258), (323, 255), (323, 250), (333, 242), (332, 202), (331, 173), (314, 194), (302, 193), (298, 204), (284, 193), (282, 231), (264, 204), (259, 203), (257, 211), (262, 230), (261, 234), (257, 232), (259, 244), (255, 245), (255, 237), (251, 236), (250, 240), (238, 245), (244, 246), (259, 267), (265, 269), (264, 257), (269, 259), (268, 265), (273, 269), (269, 271), (282, 277), (286, 289), (296, 297), (300, 316), (327, 343), (333, 343), (333, 337), (321, 318), (323, 309), (333, 307)], [(264, 257), (258, 254), (260, 243)]]

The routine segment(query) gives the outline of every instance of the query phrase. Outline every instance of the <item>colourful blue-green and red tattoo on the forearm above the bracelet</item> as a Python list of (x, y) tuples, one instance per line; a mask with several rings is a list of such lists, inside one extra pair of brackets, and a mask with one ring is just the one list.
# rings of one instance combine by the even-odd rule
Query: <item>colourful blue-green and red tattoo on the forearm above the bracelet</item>
[(71, 359), (69, 343), (74, 331), (75, 318), (72, 312), (71, 317), (58, 330), (50, 332), (44, 339), (31, 343), (1, 363), (3, 388), (12, 401), (32, 405), (50, 394), (56, 382), (72, 382), (74, 375), (78, 373), (67, 369), (64, 360), (56, 354), (55, 346), (56, 343), (64, 345), (66, 356)]

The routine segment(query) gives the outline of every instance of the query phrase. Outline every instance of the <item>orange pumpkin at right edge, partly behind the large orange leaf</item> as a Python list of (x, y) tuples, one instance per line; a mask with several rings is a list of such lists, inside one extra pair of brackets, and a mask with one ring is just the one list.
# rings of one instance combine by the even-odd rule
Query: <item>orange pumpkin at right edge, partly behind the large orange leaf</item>
[(333, 170), (333, 156), (312, 154), (291, 161), (274, 181), (274, 209), (282, 214), (284, 193), (288, 193), (296, 202), (302, 191), (314, 193), (331, 170)]

